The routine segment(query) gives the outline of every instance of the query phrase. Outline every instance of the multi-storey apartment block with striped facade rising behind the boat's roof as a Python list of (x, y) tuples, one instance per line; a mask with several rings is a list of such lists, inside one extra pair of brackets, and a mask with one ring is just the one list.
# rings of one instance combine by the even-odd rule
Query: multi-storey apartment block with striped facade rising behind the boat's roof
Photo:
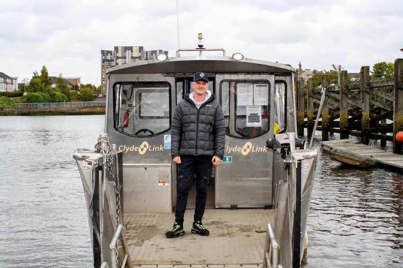
[(162, 49), (145, 51), (144, 47), (114, 47), (114, 50), (101, 50), (102, 93), (106, 93), (106, 72), (110, 67), (141, 60), (154, 60), (162, 52), (168, 55), (168, 51)]

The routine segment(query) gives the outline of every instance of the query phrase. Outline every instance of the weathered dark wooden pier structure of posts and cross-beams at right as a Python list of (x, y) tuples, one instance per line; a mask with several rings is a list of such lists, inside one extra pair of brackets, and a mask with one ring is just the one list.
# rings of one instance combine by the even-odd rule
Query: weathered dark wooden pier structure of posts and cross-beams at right
[[(396, 134), (403, 131), (403, 59), (395, 60), (394, 78), (371, 78), (370, 67), (362, 66), (359, 80), (350, 81), (347, 70), (340, 72), (339, 83), (322, 75), (322, 86), (314, 87), (313, 78), (296, 82), (296, 114), (298, 133), (307, 128), (312, 136), (318, 113), (322, 88), (326, 89), (317, 130), (322, 130), (322, 141), (329, 133), (340, 133), (340, 139), (349, 135), (361, 137), (368, 146), (370, 140), (393, 142), (393, 153), (402, 155), (403, 144)], [(305, 118), (307, 119), (305, 121)], [(387, 124), (386, 119), (393, 121)], [(393, 135), (386, 135), (393, 133)]]

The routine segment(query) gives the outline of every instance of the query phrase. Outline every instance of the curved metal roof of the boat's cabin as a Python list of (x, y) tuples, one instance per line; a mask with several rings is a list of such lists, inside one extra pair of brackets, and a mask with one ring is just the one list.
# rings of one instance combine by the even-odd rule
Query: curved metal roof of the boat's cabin
[(286, 64), (264, 60), (246, 59), (236, 61), (231, 57), (192, 56), (173, 57), (164, 62), (142, 60), (114, 66), (108, 74), (175, 74), (175, 73), (292, 73), (295, 69)]

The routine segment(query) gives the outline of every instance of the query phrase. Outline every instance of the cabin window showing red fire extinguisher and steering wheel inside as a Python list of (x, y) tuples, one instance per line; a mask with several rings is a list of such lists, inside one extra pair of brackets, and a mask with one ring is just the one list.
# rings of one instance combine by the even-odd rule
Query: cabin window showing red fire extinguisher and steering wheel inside
[[(171, 127), (168, 82), (122, 82), (113, 87), (114, 128), (129, 136), (151, 137)], [(125, 120), (126, 112), (129, 117)]]

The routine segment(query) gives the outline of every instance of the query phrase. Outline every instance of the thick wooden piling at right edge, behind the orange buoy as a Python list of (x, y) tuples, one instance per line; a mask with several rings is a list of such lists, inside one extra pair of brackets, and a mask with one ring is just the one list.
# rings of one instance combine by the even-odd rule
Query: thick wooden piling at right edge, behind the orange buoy
[(396, 141), (396, 134), (403, 131), (403, 59), (395, 60), (395, 105), (393, 113), (393, 153), (403, 155), (403, 143)]

